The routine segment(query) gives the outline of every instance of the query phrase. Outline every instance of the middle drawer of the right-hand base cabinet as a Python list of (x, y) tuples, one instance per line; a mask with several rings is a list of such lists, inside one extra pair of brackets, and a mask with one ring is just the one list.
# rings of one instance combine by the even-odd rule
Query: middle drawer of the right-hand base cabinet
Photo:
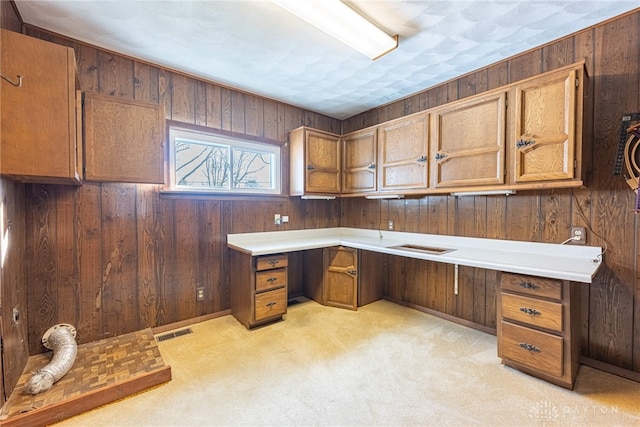
[(562, 332), (562, 304), (505, 292), (501, 300), (502, 317)]

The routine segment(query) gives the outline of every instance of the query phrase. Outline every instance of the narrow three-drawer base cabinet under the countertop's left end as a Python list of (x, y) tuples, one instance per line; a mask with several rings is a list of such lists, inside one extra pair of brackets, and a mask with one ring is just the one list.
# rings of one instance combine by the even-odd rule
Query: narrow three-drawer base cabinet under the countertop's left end
[(232, 251), (231, 314), (248, 329), (287, 312), (287, 254), (256, 256)]

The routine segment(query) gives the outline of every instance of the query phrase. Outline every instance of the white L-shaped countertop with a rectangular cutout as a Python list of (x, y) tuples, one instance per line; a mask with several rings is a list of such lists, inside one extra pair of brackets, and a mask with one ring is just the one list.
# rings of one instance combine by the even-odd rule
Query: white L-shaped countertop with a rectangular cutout
[[(451, 249), (451, 251), (434, 254), (396, 247), (406, 244)], [(390, 255), (582, 283), (591, 283), (602, 264), (602, 248), (599, 246), (560, 245), (346, 227), (227, 235), (227, 246), (253, 256), (339, 245)]]

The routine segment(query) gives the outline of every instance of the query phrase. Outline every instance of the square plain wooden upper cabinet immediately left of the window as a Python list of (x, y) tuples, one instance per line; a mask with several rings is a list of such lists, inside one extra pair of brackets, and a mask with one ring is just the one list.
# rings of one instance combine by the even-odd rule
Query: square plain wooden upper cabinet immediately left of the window
[(85, 93), (87, 181), (164, 183), (164, 106)]

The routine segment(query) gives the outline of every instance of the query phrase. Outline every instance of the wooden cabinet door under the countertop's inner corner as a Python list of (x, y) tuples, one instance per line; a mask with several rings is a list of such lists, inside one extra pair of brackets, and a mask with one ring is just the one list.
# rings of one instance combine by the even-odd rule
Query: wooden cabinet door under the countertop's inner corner
[(331, 247), (324, 250), (324, 304), (357, 310), (358, 250)]

